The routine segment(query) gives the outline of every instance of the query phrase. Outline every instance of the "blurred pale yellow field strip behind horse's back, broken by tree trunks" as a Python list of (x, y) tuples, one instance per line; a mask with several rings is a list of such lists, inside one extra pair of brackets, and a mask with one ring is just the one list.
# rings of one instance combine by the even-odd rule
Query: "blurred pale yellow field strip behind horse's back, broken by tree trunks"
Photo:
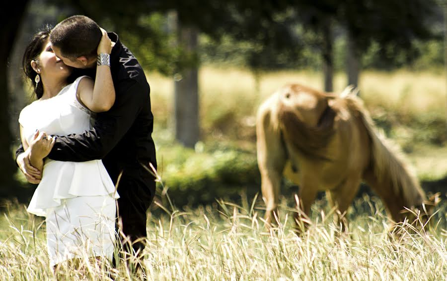
[[(173, 82), (157, 73), (148, 73), (152, 109), (161, 119), (172, 112)], [(336, 73), (334, 92), (346, 86), (346, 75)], [(199, 71), (200, 111), (204, 121), (218, 112), (233, 111), (241, 116), (255, 114), (259, 104), (287, 83), (301, 83), (322, 90), (321, 73), (275, 71), (261, 74), (259, 92), (253, 73), (245, 69), (204, 66)], [(440, 72), (364, 71), (359, 87), (367, 107), (405, 114), (446, 112), (446, 77)], [(222, 113), (223, 114), (223, 113)], [(170, 117), (170, 116), (169, 116)], [(210, 118), (212, 120), (212, 118)]]

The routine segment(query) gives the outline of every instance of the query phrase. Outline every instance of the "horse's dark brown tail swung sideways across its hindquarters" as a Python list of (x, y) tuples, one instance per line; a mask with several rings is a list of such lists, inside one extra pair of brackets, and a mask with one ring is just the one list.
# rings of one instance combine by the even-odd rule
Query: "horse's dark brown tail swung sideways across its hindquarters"
[(335, 112), (326, 102), (316, 126), (305, 124), (290, 107), (283, 104), (278, 109), (279, 127), (287, 140), (298, 151), (312, 159), (329, 160), (322, 155), (321, 149), (327, 147), (334, 135)]

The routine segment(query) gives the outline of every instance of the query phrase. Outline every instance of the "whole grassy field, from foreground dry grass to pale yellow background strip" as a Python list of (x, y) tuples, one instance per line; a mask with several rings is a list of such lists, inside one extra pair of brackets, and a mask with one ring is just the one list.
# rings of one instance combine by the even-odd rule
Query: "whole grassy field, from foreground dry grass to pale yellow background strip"
[[(442, 192), (428, 230), (391, 228), (380, 200), (363, 195), (348, 211), (348, 234), (340, 233), (332, 222), (333, 210), (322, 199), (313, 205), (313, 225), (301, 237), (293, 232), (292, 198), (282, 198), (280, 226), (272, 231), (264, 227), (264, 206), (254, 195), (260, 190), (254, 116), (258, 105), (285, 83), (321, 89), (321, 75), (265, 73), (257, 87), (248, 71), (207, 66), (199, 79), (203, 137), (193, 150), (172, 140), (172, 81), (148, 73), (156, 118), (153, 136), (165, 184), (149, 213), (143, 264), (149, 280), (447, 279), (447, 97), (442, 72), (366, 71), (360, 80), (361, 97), (378, 127), (402, 147), (419, 179), (434, 183), (430, 191)], [(336, 75), (336, 92), (345, 80)], [(163, 187), (174, 204), (187, 194), (194, 204), (171, 206)], [(237, 198), (219, 199), (230, 193)], [(207, 203), (200, 206), (197, 198)], [(44, 227), (25, 206), (9, 203), (0, 218), (1, 280), (55, 280)], [(82, 263), (84, 271), (65, 268), (60, 279), (141, 277), (123, 264), (114, 270)]]

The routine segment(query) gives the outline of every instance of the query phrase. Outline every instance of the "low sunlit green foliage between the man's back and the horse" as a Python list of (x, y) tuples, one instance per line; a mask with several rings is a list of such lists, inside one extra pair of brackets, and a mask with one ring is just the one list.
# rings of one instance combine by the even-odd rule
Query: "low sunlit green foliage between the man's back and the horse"
[(176, 206), (235, 198), (242, 190), (250, 195), (259, 191), (260, 175), (252, 151), (230, 146), (201, 151), (201, 146), (196, 145), (198, 152), (172, 143), (157, 148), (157, 161), (164, 167), (158, 172)]

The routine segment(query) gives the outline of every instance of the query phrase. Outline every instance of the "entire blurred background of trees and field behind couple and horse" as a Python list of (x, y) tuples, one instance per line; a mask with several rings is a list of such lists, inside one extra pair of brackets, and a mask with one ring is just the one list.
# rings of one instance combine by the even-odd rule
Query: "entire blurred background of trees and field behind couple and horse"
[[(74, 14), (116, 32), (151, 87), (159, 184), (176, 206), (260, 191), (255, 115), (286, 83), (360, 88), (424, 189), (447, 191), (446, 0), (16, 0), (1, 11), (0, 198), (28, 202), (14, 163), (33, 101), (21, 57), (39, 28)], [(283, 194), (297, 191), (284, 180)], [(362, 188), (362, 192), (368, 188)], [(259, 200), (259, 199), (258, 199)]]

